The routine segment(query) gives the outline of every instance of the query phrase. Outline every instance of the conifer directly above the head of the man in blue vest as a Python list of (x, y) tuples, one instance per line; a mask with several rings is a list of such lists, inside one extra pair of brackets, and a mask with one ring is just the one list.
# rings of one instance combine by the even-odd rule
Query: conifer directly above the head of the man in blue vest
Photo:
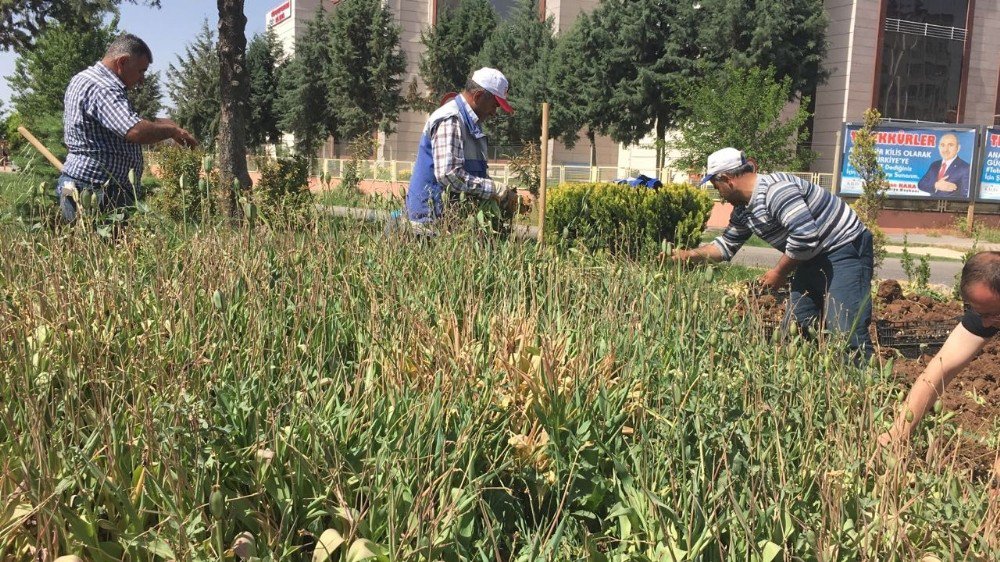
[(483, 44), (497, 27), (497, 11), (489, 0), (461, 0), (446, 6), (437, 23), (420, 34), (426, 47), (420, 58), (420, 78), (432, 99), (465, 86)]

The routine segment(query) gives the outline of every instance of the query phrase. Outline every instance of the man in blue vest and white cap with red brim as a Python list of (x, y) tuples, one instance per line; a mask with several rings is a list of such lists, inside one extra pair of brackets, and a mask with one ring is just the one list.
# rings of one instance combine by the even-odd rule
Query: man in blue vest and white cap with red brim
[(480, 68), (465, 90), (431, 114), (420, 138), (417, 161), (406, 192), (406, 218), (427, 225), (444, 211), (444, 193), (494, 200), (509, 208), (516, 190), (493, 181), (487, 171), (487, 139), (481, 124), (514, 110), (507, 103), (507, 78), (494, 68)]

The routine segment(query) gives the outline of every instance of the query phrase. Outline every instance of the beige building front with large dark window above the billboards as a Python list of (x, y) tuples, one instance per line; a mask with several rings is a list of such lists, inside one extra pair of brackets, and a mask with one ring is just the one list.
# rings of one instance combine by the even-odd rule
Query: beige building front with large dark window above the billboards
[(817, 172), (869, 107), (886, 119), (1000, 124), (1000, 0), (827, 0), (827, 82), (816, 91)]

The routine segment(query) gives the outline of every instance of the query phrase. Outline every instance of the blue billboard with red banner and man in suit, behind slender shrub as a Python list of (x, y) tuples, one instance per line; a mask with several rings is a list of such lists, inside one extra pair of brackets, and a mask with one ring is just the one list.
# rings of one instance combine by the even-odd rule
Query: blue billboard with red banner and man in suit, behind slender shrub
[[(860, 123), (844, 125), (840, 194), (861, 195), (862, 180), (850, 154)], [(976, 183), (975, 127), (885, 125), (876, 129), (878, 162), (889, 182), (891, 198), (967, 201)], [(1000, 197), (1000, 193), (998, 193)]]

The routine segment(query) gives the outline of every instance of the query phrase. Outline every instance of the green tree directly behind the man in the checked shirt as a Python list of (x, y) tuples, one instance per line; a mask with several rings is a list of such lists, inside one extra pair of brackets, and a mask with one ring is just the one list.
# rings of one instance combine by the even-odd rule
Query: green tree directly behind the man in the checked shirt
[(104, 56), (117, 33), (117, 21), (105, 25), (99, 15), (89, 26), (55, 24), (14, 61), (14, 73), (7, 78), (14, 109), (24, 126), (60, 158), (66, 156), (62, 142), (66, 86)]

